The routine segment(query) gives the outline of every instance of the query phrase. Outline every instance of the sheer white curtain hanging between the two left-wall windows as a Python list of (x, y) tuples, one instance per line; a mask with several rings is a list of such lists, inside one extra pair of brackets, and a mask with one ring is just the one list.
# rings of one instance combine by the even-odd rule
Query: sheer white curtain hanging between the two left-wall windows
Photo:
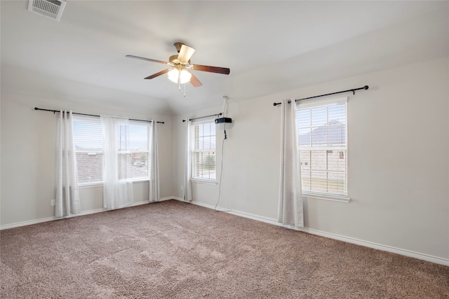
[(128, 118), (100, 118), (105, 145), (103, 207), (120, 209), (133, 202)]

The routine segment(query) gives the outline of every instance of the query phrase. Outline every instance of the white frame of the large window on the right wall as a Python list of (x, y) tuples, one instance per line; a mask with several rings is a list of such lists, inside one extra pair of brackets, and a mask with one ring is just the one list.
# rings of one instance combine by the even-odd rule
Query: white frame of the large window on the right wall
[[(349, 197), (349, 182), (348, 182), (348, 165), (349, 165), (349, 135), (348, 135), (348, 97), (338, 97), (338, 98), (332, 98), (332, 99), (311, 99), (311, 100), (303, 100), (298, 101), (296, 103), (297, 108), (297, 116), (299, 114), (299, 111), (301, 109), (311, 109), (314, 107), (320, 107), (320, 106), (335, 106), (338, 104), (344, 104), (345, 106), (345, 145), (341, 146), (316, 146), (314, 147), (313, 144), (310, 144), (309, 146), (301, 146), (300, 144), (300, 127), (298, 126), (298, 120), (297, 120), (297, 146), (298, 146), (298, 152), (301, 153), (301, 151), (326, 151), (326, 157), (327, 157), (327, 151), (344, 151), (345, 161), (344, 161), (344, 193), (332, 193), (328, 191), (319, 191), (319, 190), (302, 190), (302, 195), (307, 198), (315, 198), (319, 200), (331, 200), (336, 202), (350, 202)], [(328, 110), (327, 110), (327, 117), (328, 117)], [(312, 130), (313, 126), (310, 125), (310, 128)], [(328, 135), (329, 137), (329, 135)], [(327, 159), (327, 158), (326, 158)], [(327, 160), (326, 160), (327, 161)], [(326, 165), (327, 167), (327, 165)], [(302, 166), (300, 171), (302, 172)], [(310, 169), (311, 172), (311, 169)], [(331, 172), (333, 173), (333, 172)], [(328, 174), (329, 169), (326, 168), (326, 181), (328, 181)]]

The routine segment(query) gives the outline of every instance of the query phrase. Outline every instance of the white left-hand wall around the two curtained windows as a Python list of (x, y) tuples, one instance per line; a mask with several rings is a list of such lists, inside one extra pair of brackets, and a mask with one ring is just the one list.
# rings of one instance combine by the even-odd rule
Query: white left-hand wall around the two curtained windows
[[(41, 109), (72, 109), (74, 112), (109, 114), (136, 119), (163, 120), (158, 125), (161, 197), (173, 194), (171, 116), (118, 111), (92, 104), (1, 94), (1, 218), (0, 225), (51, 218), (55, 198), (55, 137), (58, 113)], [(102, 208), (102, 188), (80, 189), (81, 210)], [(148, 183), (134, 183), (134, 202), (148, 200)]]

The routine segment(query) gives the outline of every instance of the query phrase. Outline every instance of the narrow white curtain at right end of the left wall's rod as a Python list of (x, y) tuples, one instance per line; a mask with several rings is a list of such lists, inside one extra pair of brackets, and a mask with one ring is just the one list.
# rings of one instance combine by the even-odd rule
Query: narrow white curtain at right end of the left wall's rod
[(152, 125), (149, 127), (150, 138), (150, 179), (149, 179), (149, 202), (156, 202), (161, 198), (159, 188), (159, 152), (157, 144), (157, 122), (152, 120)]

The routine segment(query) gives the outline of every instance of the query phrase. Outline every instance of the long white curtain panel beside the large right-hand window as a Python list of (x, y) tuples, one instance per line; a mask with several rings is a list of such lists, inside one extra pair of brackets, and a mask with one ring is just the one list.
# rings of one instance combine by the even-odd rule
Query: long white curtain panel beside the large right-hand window
[(282, 144), (278, 221), (285, 225), (302, 228), (304, 227), (304, 212), (295, 100), (283, 100), (281, 109)]

